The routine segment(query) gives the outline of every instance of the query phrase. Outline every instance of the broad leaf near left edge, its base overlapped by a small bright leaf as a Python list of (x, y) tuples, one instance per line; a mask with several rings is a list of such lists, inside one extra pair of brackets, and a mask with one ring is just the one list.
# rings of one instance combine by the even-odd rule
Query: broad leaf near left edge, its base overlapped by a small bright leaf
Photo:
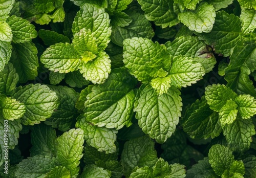
[(34, 125), (45, 121), (51, 117), (59, 105), (56, 93), (51, 91), (48, 86), (38, 83), (24, 87), (19, 86), (13, 97), (26, 106), (26, 113), (21, 118), (24, 125)]

